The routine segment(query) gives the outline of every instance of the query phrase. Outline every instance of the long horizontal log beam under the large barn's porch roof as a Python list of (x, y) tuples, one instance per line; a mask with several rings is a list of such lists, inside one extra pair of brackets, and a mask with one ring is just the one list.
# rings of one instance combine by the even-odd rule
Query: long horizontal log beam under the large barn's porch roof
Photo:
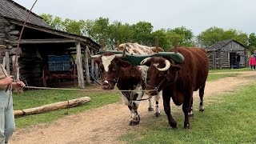
[[(74, 43), (74, 39), (70, 38), (50, 38), (50, 39), (22, 39), (20, 44), (43, 44), (43, 43)], [(18, 40), (10, 41), (13, 46), (18, 45)]]

